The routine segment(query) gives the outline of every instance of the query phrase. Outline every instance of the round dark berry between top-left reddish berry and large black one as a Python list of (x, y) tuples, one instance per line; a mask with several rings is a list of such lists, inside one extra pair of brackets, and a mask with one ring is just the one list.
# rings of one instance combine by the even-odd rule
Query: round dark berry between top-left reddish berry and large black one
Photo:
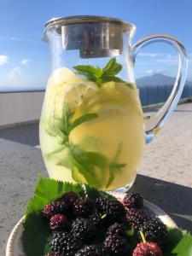
[(73, 212), (77, 217), (89, 217), (92, 211), (93, 202), (88, 197), (80, 197), (73, 205)]

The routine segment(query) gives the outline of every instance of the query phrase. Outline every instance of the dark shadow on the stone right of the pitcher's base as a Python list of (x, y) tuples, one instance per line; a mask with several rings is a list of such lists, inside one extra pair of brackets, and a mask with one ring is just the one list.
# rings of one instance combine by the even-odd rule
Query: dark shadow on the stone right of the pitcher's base
[(131, 191), (141, 193), (168, 213), (178, 227), (192, 232), (191, 188), (138, 174)]

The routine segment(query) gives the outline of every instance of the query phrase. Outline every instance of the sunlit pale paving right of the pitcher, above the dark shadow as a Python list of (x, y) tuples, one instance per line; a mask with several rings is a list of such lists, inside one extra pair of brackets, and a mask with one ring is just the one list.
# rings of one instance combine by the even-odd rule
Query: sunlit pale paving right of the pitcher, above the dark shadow
[(145, 147), (139, 173), (192, 188), (192, 104), (180, 105)]

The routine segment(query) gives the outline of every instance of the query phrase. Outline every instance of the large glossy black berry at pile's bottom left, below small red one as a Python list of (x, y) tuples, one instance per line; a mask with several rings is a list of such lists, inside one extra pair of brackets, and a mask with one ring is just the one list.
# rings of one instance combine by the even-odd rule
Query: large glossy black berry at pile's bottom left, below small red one
[(50, 248), (55, 253), (65, 256), (73, 256), (82, 247), (81, 241), (67, 232), (55, 232), (50, 241)]

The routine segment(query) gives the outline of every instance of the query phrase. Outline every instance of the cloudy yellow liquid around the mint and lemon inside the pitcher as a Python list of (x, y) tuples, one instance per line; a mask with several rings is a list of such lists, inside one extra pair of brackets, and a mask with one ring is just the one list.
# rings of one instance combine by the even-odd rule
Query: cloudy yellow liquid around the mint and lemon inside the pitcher
[[(115, 84), (115, 86), (119, 86), (119, 84)], [(79, 125), (70, 133), (71, 143), (79, 145), (84, 151), (102, 154), (108, 158), (109, 162), (113, 161), (119, 151), (115, 161), (126, 165), (113, 174), (113, 182), (109, 186), (107, 186), (110, 176), (109, 166), (104, 170), (96, 167), (95, 177), (100, 180), (96, 186), (97, 189), (118, 189), (132, 183), (142, 158), (144, 148), (143, 112), (138, 92), (137, 90), (125, 90), (125, 93), (124, 86), (118, 87), (120, 90), (117, 93), (114, 93), (113, 90), (106, 90), (106, 96), (103, 96), (100, 89), (101, 91), (99, 90), (90, 101), (83, 102), (73, 115), (73, 119), (77, 119), (84, 113), (99, 113), (98, 118)], [(49, 87), (46, 94), (49, 93)], [(122, 97), (120, 102), (119, 97)], [(47, 106), (45, 96), (39, 135), (49, 177), (66, 182), (87, 183), (79, 170), (76, 170), (76, 180), (73, 180), (71, 170), (57, 165), (58, 162), (65, 159), (67, 149), (47, 157), (49, 153), (61, 148), (56, 138), (50, 137), (44, 129), (42, 120), (49, 112)]]

